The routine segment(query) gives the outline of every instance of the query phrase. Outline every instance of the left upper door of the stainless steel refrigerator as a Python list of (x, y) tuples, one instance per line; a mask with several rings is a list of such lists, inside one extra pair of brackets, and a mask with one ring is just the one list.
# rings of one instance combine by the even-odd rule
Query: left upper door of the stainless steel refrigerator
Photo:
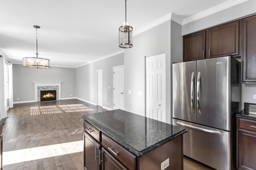
[(196, 61), (172, 64), (173, 117), (196, 122)]

